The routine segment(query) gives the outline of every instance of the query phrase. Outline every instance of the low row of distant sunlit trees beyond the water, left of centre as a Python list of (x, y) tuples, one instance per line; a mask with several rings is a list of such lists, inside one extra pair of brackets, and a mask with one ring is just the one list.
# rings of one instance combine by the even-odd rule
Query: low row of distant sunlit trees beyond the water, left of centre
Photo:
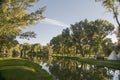
[(48, 55), (50, 49), (48, 46), (42, 46), (40, 43), (36, 44), (17, 44), (11, 49), (12, 57), (30, 58), (41, 57)]

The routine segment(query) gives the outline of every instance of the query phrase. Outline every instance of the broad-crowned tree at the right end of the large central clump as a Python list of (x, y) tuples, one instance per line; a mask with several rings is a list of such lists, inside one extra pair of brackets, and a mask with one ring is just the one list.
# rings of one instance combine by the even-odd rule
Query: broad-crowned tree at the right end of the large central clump
[(92, 26), (91, 31), (93, 32), (93, 35), (89, 42), (93, 52), (96, 54), (102, 51), (102, 43), (105, 39), (107, 39), (107, 36), (114, 30), (114, 25), (106, 20), (95, 20), (94, 22), (90, 22), (90, 26)]

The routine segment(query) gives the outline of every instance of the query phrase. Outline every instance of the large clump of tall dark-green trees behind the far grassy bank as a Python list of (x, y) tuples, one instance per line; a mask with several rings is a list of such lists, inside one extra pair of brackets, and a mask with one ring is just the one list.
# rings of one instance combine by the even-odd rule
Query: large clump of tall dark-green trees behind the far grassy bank
[(81, 56), (105, 54), (111, 52), (113, 43), (108, 35), (114, 30), (114, 25), (106, 20), (80, 21), (66, 28), (50, 41), (53, 53)]

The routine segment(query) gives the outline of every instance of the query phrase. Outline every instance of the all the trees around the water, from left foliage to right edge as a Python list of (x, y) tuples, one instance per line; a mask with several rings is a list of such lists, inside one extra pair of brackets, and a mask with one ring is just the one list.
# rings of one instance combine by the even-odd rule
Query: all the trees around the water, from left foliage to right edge
[[(20, 57), (33, 53), (39, 53), (43, 50), (45, 53), (70, 54), (81, 56), (104, 53), (108, 55), (114, 44), (108, 35), (114, 30), (114, 25), (106, 20), (80, 21), (66, 28), (62, 33), (53, 37), (50, 45), (43, 49), (40, 44), (19, 44), (16, 37), (22, 39), (35, 38), (34, 32), (22, 32), (22, 29), (29, 25), (36, 24), (37, 21), (44, 19), (42, 16), (46, 7), (42, 7), (35, 12), (28, 12), (27, 9), (33, 6), (38, 0), (0, 0), (0, 54), (10, 53), (12, 56), (19, 53)], [(117, 50), (120, 48), (120, 22), (119, 5), (120, 0), (95, 0), (101, 1), (103, 6), (110, 12), (118, 24), (118, 43)], [(53, 52), (52, 52), (53, 51)], [(43, 52), (43, 53), (44, 53)]]

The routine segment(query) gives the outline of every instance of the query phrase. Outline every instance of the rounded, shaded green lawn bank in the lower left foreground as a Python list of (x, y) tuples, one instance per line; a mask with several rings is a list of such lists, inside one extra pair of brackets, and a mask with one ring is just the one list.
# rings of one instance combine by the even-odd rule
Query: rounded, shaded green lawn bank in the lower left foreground
[(0, 80), (52, 80), (52, 76), (31, 61), (0, 58)]

